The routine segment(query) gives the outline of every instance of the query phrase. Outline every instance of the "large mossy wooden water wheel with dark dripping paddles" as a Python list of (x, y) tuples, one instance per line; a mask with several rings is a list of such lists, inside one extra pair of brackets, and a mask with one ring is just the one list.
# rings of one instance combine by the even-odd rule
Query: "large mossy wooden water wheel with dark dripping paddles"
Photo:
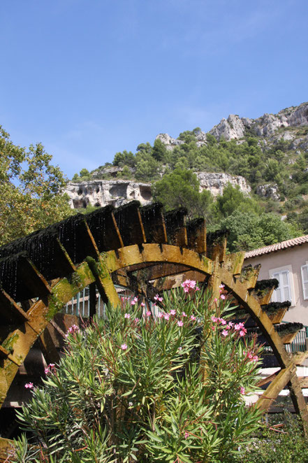
[[(186, 222), (184, 209), (163, 214), (161, 204), (140, 207), (132, 201), (74, 215), (20, 238), (0, 248), (0, 259), (1, 405), (37, 340), (47, 362), (57, 358), (50, 323), (80, 290), (96, 287), (104, 301), (118, 304), (115, 284), (151, 299), (189, 278), (204, 282), (214, 294), (223, 283), (272, 348), (280, 370), (263, 380), (268, 386), (257, 406), (267, 411), (288, 387), (295, 411), (308, 422), (304, 383), (296, 375), (306, 354), (286, 351), (288, 340), (264, 310), (275, 281), (257, 283), (259, 268), (242, 268), (244, 252), (226, 255), (226, 232), (206, 234), (205, 220)], [(95, 299), (95, 290), (91, 294)], [(95, 300), (90, 306), (94, 315)], [(9, 445), (0, 441), (2, 457)]]

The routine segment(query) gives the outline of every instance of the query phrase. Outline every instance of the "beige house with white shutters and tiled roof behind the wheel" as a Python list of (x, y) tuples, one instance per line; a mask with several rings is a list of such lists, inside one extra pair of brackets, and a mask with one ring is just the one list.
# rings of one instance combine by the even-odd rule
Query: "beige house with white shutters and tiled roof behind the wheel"
[(291, 301), (284, 321), (308, 327), (308, 235), (246, 252), (244, 265), (256, 264), (261, 264), (258, 280), (279, 281), (272, 301)]

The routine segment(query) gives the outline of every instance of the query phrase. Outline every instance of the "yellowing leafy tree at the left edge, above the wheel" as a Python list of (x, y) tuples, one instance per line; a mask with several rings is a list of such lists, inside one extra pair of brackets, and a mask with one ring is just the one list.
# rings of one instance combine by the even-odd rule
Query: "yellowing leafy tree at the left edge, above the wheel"
[(0, 245), (73, 213), (66, 178), (41, 143), (20, 148), (0, 126), (0, 155)]

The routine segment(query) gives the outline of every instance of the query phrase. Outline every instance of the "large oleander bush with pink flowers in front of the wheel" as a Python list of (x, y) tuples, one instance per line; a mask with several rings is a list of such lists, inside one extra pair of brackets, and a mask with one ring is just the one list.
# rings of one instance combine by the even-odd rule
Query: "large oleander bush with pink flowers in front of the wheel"
[(36, 446), (20, 439), (15, 461), (214, 463), (249, 445), (260, 412), (242, 394), (256, 390), (259, 350), (221, 318), (225, 294), (182, 285), (155, 297), (156, 318), (134, 298), (71, 327), (66, 355), (19, 413)]

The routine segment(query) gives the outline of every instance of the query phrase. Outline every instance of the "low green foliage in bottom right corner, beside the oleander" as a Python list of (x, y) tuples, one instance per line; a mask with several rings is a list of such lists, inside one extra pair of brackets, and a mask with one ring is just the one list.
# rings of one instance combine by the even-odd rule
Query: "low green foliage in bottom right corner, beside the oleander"
[(242, 446), (235, 462), (249, 463), (307, 463), (308, 440), (300, 421), (286, 412), (274, 415), (270, 425), (263, 425), (254, 442)]

